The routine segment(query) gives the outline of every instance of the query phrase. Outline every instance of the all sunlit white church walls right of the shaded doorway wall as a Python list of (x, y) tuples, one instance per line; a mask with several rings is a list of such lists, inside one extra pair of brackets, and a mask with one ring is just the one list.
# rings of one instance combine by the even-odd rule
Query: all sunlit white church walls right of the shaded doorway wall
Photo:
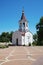
[(33, 35), (30, 32), (25, 33), (25, 36), (22, 36), (22, 45), (29, 45), (31, 43), (32, 45), (33, 42)]

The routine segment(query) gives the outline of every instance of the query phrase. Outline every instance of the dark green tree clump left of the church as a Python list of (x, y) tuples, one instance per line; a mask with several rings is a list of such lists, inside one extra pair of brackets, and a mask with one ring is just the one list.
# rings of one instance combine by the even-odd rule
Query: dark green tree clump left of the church
[(0, 35), (0, 42), (12, 42), (12, 34), (13, 32), (3, 32), (1, 35)]

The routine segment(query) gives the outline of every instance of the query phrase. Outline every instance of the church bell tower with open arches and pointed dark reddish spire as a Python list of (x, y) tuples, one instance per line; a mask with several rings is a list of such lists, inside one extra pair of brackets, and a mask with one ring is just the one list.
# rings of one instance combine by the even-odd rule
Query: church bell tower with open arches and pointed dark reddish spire
[(28, 32), (28, 21), (25, 18), (24, 10), (22, 10), (22, 16), (19, 21), (19, 31), (20, 32)]

